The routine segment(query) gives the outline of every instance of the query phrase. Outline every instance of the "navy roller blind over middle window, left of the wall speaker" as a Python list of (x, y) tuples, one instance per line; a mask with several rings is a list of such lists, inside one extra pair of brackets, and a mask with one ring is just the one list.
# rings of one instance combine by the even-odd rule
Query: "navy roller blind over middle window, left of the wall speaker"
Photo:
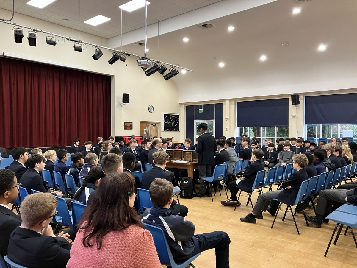
[(288, 126), (289, 99), (237, 101), (237, 126)]

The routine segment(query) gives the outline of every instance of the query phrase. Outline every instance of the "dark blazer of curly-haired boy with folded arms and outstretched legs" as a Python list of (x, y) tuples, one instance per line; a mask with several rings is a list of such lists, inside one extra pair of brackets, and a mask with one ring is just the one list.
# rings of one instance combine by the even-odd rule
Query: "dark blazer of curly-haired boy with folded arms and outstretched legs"
[[(287, 205), (293, 205), (300, 190), (301, 183), (307, 179), (308, 176), (305, 168), (291, 174), (290, 178), (285, 180), (281, 185), (281, 188), (284, 190), (279, 193), (278, 201)], [(288, 186), (291, 186), (291, 189), (285, 189)]]

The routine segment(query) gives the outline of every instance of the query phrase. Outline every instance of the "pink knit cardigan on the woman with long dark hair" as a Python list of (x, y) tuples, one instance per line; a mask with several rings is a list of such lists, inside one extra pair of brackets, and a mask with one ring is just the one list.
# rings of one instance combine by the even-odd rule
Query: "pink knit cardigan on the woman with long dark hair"
[[(102, 238), (102, 248), (82, 244), (84, 232), (78, 232), (70, 251), (67, 268), (161, 268), (154, 240), (148, 230), (136, 225), (112, 231)], [(93, 243), (93, 242), (91, 242)]]

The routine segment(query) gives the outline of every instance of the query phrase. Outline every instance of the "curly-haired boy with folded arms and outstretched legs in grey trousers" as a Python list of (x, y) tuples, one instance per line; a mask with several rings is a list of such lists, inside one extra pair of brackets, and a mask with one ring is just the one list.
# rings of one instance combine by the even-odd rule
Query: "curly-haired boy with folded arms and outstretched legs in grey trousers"
[[(270, 191), (260, 194), (255, 204), (252, 213), (249, 213), (246, 217), (240, 218), (242, 222), (256, 223), (255, 218), (263, 219), (263, 211), (266, 211), (271, 200), (274, 198), (278, 199), (278, 202), (283, 202), (284, 204), (293, 205), (297, 194), (300, 190), (301, 183), (308, 179), (305, 167), (308, 164), (306, 155), (295, 154), (293, 156), (293, 168), (297, 170), (291, 174), (290, 178), (285, 180), (281, 186), (280, 190)], [(268, 212), (274, 216), (278, 202), (273, 202), (272, 208)]]

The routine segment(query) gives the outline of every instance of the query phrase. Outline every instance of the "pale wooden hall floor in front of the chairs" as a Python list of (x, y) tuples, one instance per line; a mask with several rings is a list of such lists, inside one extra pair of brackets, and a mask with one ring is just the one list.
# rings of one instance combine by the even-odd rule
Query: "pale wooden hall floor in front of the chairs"
[[(253, 193), (253, 205), (257, 197), (258, 193)], [(298, 235), (290, 212), (284, 222), (281, 220), (284, 213), (279, 212), (271, 229), (274, 217), (267, 212), (263, 213), (264, 219), (257, 219), (256, 224), (240, 221), (240, 217), (245, 217), (252, 210), (250, 204), (245, 205), (246, 196), (241, 196), (242, 205), (236, 211), (233, 207), (221, 205), (220, 201), (226, 199), (223, 191), (222, 196), (218, 192), (213, 196), (213, 203), (210, 197), (180, 198), (180, 203), (189, 209), (185, 219), (195, 224), (195, 234), (216, 230), (228, 233), (231, 238), (230, 267), (356, 267), (357, 251), (349, 233), (341, 235), (337, 245), (331, 245), (327, 257), (323, 256), (335, 222), (324, 223), (321, 228), (312, 224), (307, 227), (302, 213), (297, 213)], [(282, 209), (285, 208), (282, 205)], [(312, 208), (306, 212), (315, 215)], [(215, 251), (202, 252), (193, 264), (197, 268), (215, 267)]]

